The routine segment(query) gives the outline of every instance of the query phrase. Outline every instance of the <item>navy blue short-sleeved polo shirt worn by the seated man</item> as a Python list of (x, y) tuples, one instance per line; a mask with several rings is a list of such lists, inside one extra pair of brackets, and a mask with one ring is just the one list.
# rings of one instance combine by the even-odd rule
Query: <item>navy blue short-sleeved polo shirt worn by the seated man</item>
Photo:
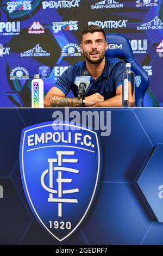
[[(55, 87), (59, 88), (65, 95), (72, 90), (74, 97), (78, 96), (78, 87), (74, 84), (76, 76), (82, 76), (86, 69), (84, 62), (78, 62), (64, 71)], [(125, 63), (120, 59), (105, 57), (105, 66), (102, 75), (97, 79), (91, 77), (90, 85), (85, 96), (99, 93), (104, 96), (104, 100), (116, 95), (116, 88), (122, 84), (123, 72), (126, 70)]]

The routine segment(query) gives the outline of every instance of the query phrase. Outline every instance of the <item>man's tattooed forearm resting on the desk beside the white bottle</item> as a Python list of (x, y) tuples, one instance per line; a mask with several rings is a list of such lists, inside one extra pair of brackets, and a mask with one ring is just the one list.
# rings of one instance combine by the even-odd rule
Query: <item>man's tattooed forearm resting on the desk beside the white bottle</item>
[(78, 98), (68, 98), (51, 95), (48, 97), (50, 102), (50, 107), (82, 107), (82, 99)]

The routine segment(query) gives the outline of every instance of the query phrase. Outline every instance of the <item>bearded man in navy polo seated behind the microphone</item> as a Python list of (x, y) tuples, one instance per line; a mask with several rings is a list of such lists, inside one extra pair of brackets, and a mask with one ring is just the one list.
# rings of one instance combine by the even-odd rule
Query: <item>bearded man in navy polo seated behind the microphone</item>
[[(122, 107), (122, 78), (126, 70), (120, 59), (105, 57), (108, 42), (101, 27), (86, 26), (82, 32), (80, 50), (85, 61), (74, 64), (60, 76), (44, 99), (45, 107)], [(74, 84), (84, 70), (91, 81), (85, 99), (78, 99), (78, 87)], [(72, 90), (74, 97), (66, 97)], [(129, 93), (130, 94), (130, 93)], [(129, 106), (134, 105), (129, 95)]]

